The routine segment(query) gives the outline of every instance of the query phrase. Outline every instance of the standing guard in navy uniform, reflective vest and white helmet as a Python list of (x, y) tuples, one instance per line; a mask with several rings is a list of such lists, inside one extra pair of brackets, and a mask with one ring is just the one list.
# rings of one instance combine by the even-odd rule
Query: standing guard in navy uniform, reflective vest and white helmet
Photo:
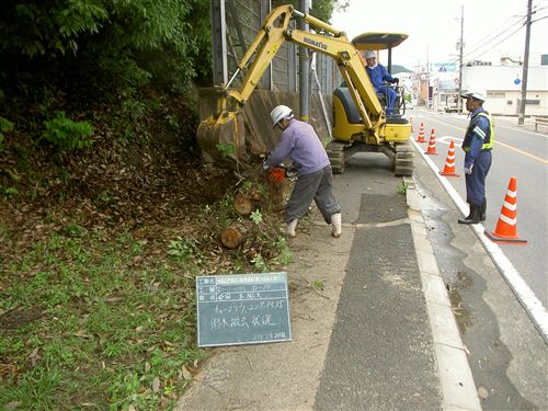
[(492, 162), (494, 123), (491, 115), (483, 109), (486, 101), (483, 92), (467, 91), (460, 96), (466, 99), (466, 110), (470, 113), (470, 123), (463, 141), (466, 202), (470, 206), (470, 213), (458, 222), (478, 224), (486, 220), (486, 178)]

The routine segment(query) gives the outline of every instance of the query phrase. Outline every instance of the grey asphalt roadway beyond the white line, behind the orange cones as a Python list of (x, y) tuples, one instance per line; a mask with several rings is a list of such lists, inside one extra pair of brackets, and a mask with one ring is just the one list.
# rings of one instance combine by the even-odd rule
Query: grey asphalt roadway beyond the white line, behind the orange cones
[[(461, 175), (448, 181), (466, 198), (460, 144), (468, 118), (416, 109), (408, 115), (412, 117), (415, 134), (420, 124), (424, 124), (426, 141), (431, 130), (435, 130), (438, 155), (431, 159), (439, 170), (444, 169), (450, 140), (455, 140), (456, 171)], [(421, 146), (426, 150), (427, 142)], [(493, 164), (487, 181), (488, 210), (483, 226), (489, 231), (496, 226), (512, 176), (517, 182), (517, 231), (527, 244), (499, 246), (537, 298), (548, 307), (548, 136), (530, 127), (517, 127), (515, 118), (498, 117)]]

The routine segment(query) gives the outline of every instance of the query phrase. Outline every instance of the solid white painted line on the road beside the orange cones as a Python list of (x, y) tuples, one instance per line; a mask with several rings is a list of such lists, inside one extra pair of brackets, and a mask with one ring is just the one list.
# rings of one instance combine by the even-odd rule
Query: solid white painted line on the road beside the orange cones
[[(468, 206), (457, 191), (453, 187), (453, 185), (448, 182), (447, 178), (439, 174), (439, 169), (434, 164), (432, 159), (429, 156), (425, 156), (422, 148), (411, 139), (411, 142), (415, 146), (418, 151), (421, 153), (426, 164), (432, 169), (437, 180), (442, 183), (445, 191), (453, 199), (458, 210), (463, 214), (463, 216), (468, 215)], [(517, 297), (518, 301), (524, 307), (525, 311), (529, 316), (534, 326), (543, 336), (545, 344), (548, 344), (548, 312), (546, 308), (543, 306), (543, 302), (537, 298), (535, 293), (529, 288), (527, 283), (522, 278), (517, 270), (514, 267), (512, 262), (506, 258), (506, 255), (502, 252), (501, 248), (488, 239), (484, 235), (484, 228), (481, 224), (470, 225), (473, 232), (483, 244), (487, 253), (491, 256), (494, 265), (499, 269), (499, 272), (502, 274), (506, 283), (510, 285), (510, 288)], [(517, 247), (517, 246), (516, 246)], [(520, 246), (523, 247), (523, 246)]]

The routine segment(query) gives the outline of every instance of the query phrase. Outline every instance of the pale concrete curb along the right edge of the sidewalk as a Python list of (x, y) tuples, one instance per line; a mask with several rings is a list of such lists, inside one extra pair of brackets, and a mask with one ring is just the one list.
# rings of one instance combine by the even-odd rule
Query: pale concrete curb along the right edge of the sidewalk
[(443, 393), (443, 410), (481, 410), (468, 364), (466, 349), (460, 340), (457, 322), (437, 262), (427, 238), (422, 216), (421, 196), (412, 179), (406, 184), (409, 219), (421, 270), (426, 308), (429, 311), (435, 355)]

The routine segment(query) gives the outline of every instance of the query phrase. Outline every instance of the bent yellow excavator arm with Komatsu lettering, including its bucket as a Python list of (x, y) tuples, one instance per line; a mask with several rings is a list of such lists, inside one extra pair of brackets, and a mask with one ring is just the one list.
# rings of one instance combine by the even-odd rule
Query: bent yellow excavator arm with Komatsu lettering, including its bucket
[[(296, 18), (302, 19), (322, 33), (292, 28), (290, 22)], [(286, 4), (274, 9), (266, 16), (253, 43), (239, 61), (237, 71), (228, 84), (222, 88), (217, 101), (216, 113), (199, 125), (197, 139), (203, 152), (213, 160), (221, 160), (222, 157), (238, 161), (244, 156), (242, 106), (256, 88), (284, 42), (305, 46), (313, 52), (328, 55), (336, 61), (363, 122), (363, 133), (377, 141), (381, 140), (386, 126), (386, 115), (369, 81), (358, 50), (349, 42), (344, 32)], [(240, 72), (244, 75), (241, 87), (230, 89), (231, 82)], [(227, 149), (228, 146), (233, 146), (235, 150)]]

